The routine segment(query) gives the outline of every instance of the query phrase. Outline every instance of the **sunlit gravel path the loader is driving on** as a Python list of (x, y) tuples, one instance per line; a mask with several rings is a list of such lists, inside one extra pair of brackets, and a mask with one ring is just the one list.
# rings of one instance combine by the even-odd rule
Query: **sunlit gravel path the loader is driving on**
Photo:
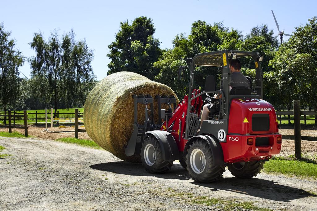
[[(105, 150), (50, 140), (0, 138), (0, 210), (221, 210), (198, 196), (254, 202), (274, 210), (317, 210), (317, 181), (261, 173), (241, 180), (227, 170), (217, 183), (193, 181), (180, 164), (148, 174)], [(243, 210), (237, 208), (236, 210)]]

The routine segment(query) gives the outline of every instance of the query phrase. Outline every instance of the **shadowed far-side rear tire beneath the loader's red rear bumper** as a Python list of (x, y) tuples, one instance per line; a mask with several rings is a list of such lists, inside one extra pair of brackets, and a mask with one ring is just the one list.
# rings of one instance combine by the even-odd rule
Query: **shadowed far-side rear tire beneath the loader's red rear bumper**
[(228, 169), (235, 177), (247, 179), (261, 173), (264, 163), (265, 161), (231, 163), (228, 165)]

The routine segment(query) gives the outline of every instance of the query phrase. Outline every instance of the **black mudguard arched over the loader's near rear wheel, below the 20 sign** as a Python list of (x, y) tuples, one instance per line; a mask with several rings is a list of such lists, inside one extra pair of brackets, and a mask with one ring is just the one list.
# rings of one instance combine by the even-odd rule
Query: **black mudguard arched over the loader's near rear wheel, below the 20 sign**
[(189, 146), (191, 145), (193, 141), (197, 139), (202, 139), (209, 144), (215, 166), (224, 164), (222, 147), (220, 143), (218, 142), (218, 140), (210, 135), (196, 135), (194, 137), (191, 137), (186, 143), (184, 148), (184, 153), (183, 153), (184, 159), (186, 159), (186, 154), (187, 154), (187, 150), (189, 149)]

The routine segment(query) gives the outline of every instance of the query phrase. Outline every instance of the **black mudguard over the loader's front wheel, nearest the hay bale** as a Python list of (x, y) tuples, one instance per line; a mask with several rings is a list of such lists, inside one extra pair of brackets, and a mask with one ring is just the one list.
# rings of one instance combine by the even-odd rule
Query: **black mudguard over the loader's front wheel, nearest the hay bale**
[(175, 161), (179, 159), (177, 143), (169, 132), (162, 130), (151, 130), (147, 131), (146, 135), (154, 135), (159, 140), (163, 159), (165, 161)]

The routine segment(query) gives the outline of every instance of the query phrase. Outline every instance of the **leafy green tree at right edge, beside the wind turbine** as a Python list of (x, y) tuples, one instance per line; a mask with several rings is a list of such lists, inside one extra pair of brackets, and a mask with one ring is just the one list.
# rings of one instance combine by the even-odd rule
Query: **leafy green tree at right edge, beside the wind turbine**
[(302, 106), (317, 109), (317, 23), (316, 17), (305, 26), (296, 27), (269, 65), (274, 69), (276, 96), (290, 109), (294, 99)]

